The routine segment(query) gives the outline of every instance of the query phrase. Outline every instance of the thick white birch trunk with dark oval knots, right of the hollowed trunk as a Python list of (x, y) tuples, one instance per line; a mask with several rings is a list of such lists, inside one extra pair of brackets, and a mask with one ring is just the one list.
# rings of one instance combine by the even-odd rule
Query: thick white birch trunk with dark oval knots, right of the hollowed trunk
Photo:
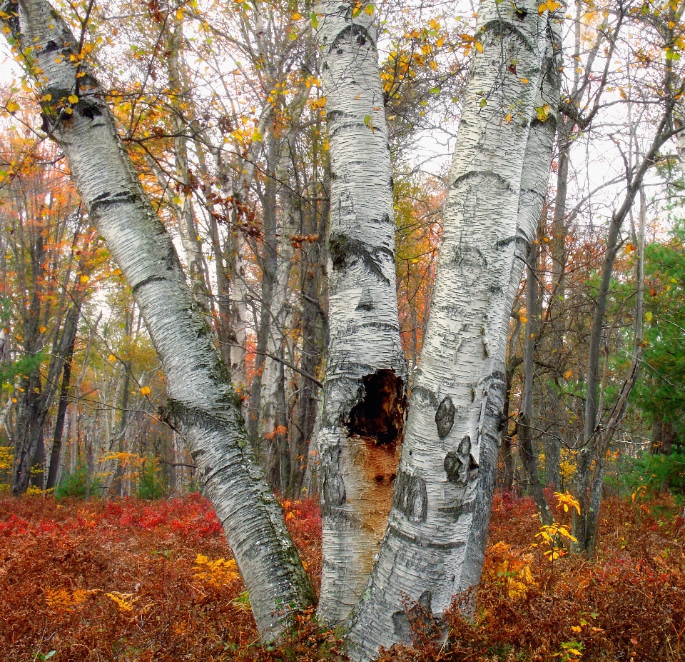
[[(524, 227), (519, 201), (547, 19), (529, 1), (480, 6), (395, 498), (380, 557), (350, 619), (357, 660), (410, 638), (403, 601), (442, 616), (455, 593), (480, 580), (506, 388), (499, 348), (517, 244), (532, 241), (539, 217), (532, 214)], [(534, 168), (547, 177), (549, 156), (526, 164)]]

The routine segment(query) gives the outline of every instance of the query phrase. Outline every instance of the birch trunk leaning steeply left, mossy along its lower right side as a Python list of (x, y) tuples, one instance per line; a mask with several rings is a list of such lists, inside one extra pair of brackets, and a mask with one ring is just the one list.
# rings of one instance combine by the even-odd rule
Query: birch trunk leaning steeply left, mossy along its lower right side
[(52, 135), (141, 309), (166, 374), (170, 418), (223, 523), (260, 633), (275, 636), (287, 612), (310, 605), (313, 592), (280, 506), (248, 450), (240, 403), (171, 238), (141, 188), (97, 81), (88, 71), (76, 78), (69, 58), (78, 62), (78, 40), (64, 20), (44, 0), (9, 0), (0, 9), (16, 54), (30, 49), (29, 73), (39, 76)]

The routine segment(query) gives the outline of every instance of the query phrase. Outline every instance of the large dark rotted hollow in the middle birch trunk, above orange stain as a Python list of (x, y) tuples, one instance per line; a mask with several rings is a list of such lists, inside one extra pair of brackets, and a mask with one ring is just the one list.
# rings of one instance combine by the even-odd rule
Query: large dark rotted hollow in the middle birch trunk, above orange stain
[(350, 434), (373, 439), (377, 446), (396, 443), (405, 429), (405, 385), (394, 370), (366, 375), (357, 394), (357, 404), (342, 424)]

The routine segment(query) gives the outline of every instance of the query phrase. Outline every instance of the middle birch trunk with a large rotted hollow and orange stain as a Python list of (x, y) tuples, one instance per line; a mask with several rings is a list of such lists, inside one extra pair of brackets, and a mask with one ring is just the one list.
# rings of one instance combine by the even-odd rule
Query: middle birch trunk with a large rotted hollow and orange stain
[(361, 596), (390, 511), (407, 366), (395, 289), (395, 221), (375, 18), (315, 7), (330, 144), (330, 340), (320, 433), (323, 569), (318, 614)]

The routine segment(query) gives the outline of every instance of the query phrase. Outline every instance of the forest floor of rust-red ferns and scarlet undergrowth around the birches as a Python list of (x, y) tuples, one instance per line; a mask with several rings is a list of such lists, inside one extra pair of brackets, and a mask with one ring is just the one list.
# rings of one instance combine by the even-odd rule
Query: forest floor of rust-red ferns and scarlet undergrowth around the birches
[[(283, 505), (318, 583), (318, 507)], [(445, 628), (407, 605), (414, 645), (382, 660), (685, 660), (685, 521), (666, 498), (602, 508), (596, 560), (550, 561), (532, 502), (498, 495), (475, 620), (455, 610), (444, 640)], [(279, 646), (260, 646), (244, 591), (214, 511), (197, 494), (0, 498), (2, 661), (343, 659), (334, 634), (308, 615)]]

